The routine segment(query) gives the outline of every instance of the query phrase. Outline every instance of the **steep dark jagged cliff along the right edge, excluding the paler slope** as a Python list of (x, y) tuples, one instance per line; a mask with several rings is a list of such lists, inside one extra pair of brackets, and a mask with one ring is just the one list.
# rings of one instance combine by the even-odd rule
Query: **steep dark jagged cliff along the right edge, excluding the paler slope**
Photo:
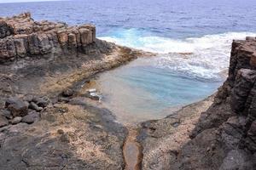
[(180, 151), (179, 169), (256, 166), (256, 37), (232, 43), (229, 77)]

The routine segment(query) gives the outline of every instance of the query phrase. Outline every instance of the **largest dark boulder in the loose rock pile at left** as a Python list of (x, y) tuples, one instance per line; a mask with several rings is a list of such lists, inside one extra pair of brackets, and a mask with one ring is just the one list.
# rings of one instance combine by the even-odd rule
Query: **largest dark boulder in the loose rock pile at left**
[(7, 99), (5, 106), (13, 116), (26, 116), (28, 111), (28, 103), (17, 98)]

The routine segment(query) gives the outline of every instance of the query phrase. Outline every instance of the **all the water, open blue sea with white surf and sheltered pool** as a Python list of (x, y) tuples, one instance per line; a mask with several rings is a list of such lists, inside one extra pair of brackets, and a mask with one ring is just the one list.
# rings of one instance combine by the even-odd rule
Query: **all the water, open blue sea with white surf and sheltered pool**
[(216, 92), (232, 40), (256, 36), (255, 0), (0, 3), (0, 16), (24, 11), (35, 20), (92, 23), (102, 40), (158, 54), (98, 79), (102, 105), (131, 122), (166, 116)]

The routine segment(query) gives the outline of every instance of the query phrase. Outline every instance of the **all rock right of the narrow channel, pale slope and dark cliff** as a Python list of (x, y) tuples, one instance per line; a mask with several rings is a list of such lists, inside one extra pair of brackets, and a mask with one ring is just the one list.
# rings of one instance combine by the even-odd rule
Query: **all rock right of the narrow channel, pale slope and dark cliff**
[(209, 99), (143, 123), (143, 169), (255, 169), (255, 61), (255, 37), (234, 41), (229, 77), (207, 111)]

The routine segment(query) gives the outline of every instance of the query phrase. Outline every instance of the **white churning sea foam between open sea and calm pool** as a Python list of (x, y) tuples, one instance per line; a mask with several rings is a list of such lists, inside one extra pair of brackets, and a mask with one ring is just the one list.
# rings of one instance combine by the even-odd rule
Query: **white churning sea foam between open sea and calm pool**
[[(233, 39), (256, 36), (253, 32), (228, 32), (203, 37), (172, 39), (166, 37), (140, 37), (134, 30), (119, 32), (118, 37), (100, 37), (131, 48), (160, 54), (148, 60), (150, 65), (183, 72), (191, 77), (217, 78), (220, 71), (228, 68)], [(177, 54), (191, 53), (191, 54)], [(147, 61), (143, 60), (145, 64)]]

